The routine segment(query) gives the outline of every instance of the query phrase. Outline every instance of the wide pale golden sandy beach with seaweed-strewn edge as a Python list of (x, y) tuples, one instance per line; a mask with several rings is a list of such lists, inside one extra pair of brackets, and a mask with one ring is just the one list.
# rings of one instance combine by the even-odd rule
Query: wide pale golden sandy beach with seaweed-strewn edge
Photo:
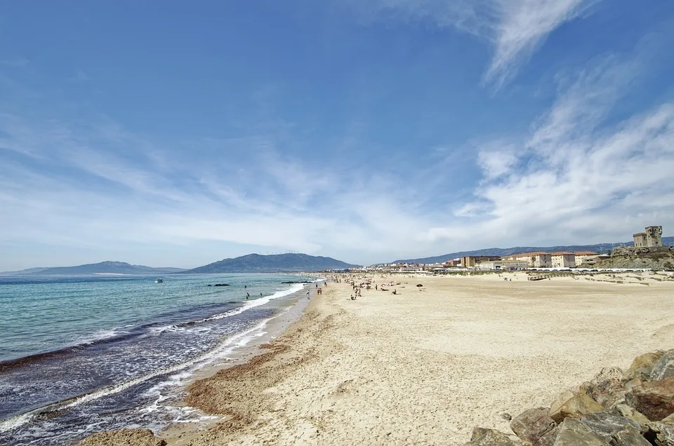
[(674, 281), (656, 280), (665, 276), (503, 276), (512, 280), (378, 278), (401, 282), (400, 294), (363, 290), (355, 301), (350, 285), (329, 283), (261, 355), (192, 385), (187, 404), (224, 421), (159, 436), (194, 446), (461, 445), (474, 426), (510, 432), (503, 412), (549, 405), (602, 367), (674, 348)]

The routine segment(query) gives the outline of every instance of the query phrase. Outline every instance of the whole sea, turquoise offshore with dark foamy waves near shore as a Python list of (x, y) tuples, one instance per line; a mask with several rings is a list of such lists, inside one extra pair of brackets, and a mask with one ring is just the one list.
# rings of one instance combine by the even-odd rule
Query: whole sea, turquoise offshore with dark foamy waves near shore
[[(0, 277), (0, 444), (72, 445), (209, 416), (185, 383), (305, 296), (296, 275)], [(216, 284), (227, 284), (215, 286)], [(313, 287), (313, 285), (312, 285)]]

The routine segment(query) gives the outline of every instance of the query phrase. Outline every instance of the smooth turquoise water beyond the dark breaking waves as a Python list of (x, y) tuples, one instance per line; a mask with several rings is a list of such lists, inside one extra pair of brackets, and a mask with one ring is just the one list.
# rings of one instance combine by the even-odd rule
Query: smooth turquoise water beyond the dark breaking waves
[[(0, 361), (110, 337), (125, 327), (171, 316), (180, 318), (200, 306), (244, 302), (246, 293), (253, 298), (260, 292), (268, 296), (294, 276), (180, 275), (166, 276), (164, 283), (154, 279), (0, 278)], [(215, 283), (231, 286), (207, 286)]]

